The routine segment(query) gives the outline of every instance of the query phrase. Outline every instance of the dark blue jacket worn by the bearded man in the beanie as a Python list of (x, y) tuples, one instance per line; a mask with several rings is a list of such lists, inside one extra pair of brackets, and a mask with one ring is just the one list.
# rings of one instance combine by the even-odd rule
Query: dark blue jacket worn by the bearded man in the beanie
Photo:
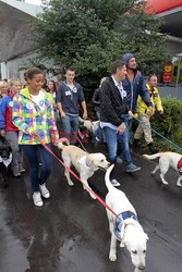
[(145, 101), (148, 107), (153, 107), (150, 102), (150, 96), (148, 89), (145, 86), (144, 77), (139, 71), (136, 71), (135, 77), (131, 83), (126, 77), (122, 81), (123, 89), (126, 91), (126, 102), (129, 108), (132, 110), (133, 113), (136, 112), (136, 102), (138, 95)]

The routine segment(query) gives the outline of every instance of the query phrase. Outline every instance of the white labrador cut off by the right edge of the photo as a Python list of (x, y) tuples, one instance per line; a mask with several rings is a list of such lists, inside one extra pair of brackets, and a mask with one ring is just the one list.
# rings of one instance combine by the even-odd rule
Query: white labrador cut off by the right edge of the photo
[[(173, 170), (175, 170), (178, 173), (180, 172), (180, 169), (178, 169), (178, 162), (181, 160), (182, 154), (175, 153), (175, 152), (160, 152), (156, 154), (144, 154), (144, 158), (148, 160), (155, 160), (159, 158), (159, 163), (155, 168), (155, 170), (151, 172), (151, 174), (155, 174), (156, 171), (160, 170), (160, 178), (163, 184), (168, 184), (168, 182), (165, 180), (165, 175), (168, 172), (169, 168), (171, 166)], [(177, 186), (181, 186), (182, 175), (179, 176), (177, 181)]]

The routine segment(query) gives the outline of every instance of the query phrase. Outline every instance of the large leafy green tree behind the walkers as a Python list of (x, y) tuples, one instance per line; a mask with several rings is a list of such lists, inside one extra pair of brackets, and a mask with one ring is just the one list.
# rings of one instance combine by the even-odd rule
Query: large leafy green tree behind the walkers
[(136, 55), (147, 75), (166, 59), (161, 20), (145, 13), (136, 0), (50, 0), (33, 21), (39, 57), (61, 67), (74, 66), (88, 89), (109, 74), (111, 61), (123, 53)]

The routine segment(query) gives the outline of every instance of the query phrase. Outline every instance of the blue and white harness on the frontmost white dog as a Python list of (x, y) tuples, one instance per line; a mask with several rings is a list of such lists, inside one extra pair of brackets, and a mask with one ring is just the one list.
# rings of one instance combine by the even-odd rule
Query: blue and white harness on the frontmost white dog
[(121, 242), (121, 236), (122, 236), (121, 233), (126, 226), (126, 224), (124, 225), (125, 219), (134, 219), (135, 221), (137, 221), (137, 215), (132, 211), (123, 211), (117, 215), (113, 232), (114, 232), (117, 239), (119, 239), (120, 242)]

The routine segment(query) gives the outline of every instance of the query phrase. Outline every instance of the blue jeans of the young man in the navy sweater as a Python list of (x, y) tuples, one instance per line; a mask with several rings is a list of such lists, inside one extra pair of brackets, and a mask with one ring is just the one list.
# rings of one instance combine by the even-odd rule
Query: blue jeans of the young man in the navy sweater
[(70, 144), (76, 143), (76, 135), (78, 131), (78, 116), (65, 115), (65, 118), (61, 118), (62, 128), (64, 132), (64, 136), (70, 140)]

